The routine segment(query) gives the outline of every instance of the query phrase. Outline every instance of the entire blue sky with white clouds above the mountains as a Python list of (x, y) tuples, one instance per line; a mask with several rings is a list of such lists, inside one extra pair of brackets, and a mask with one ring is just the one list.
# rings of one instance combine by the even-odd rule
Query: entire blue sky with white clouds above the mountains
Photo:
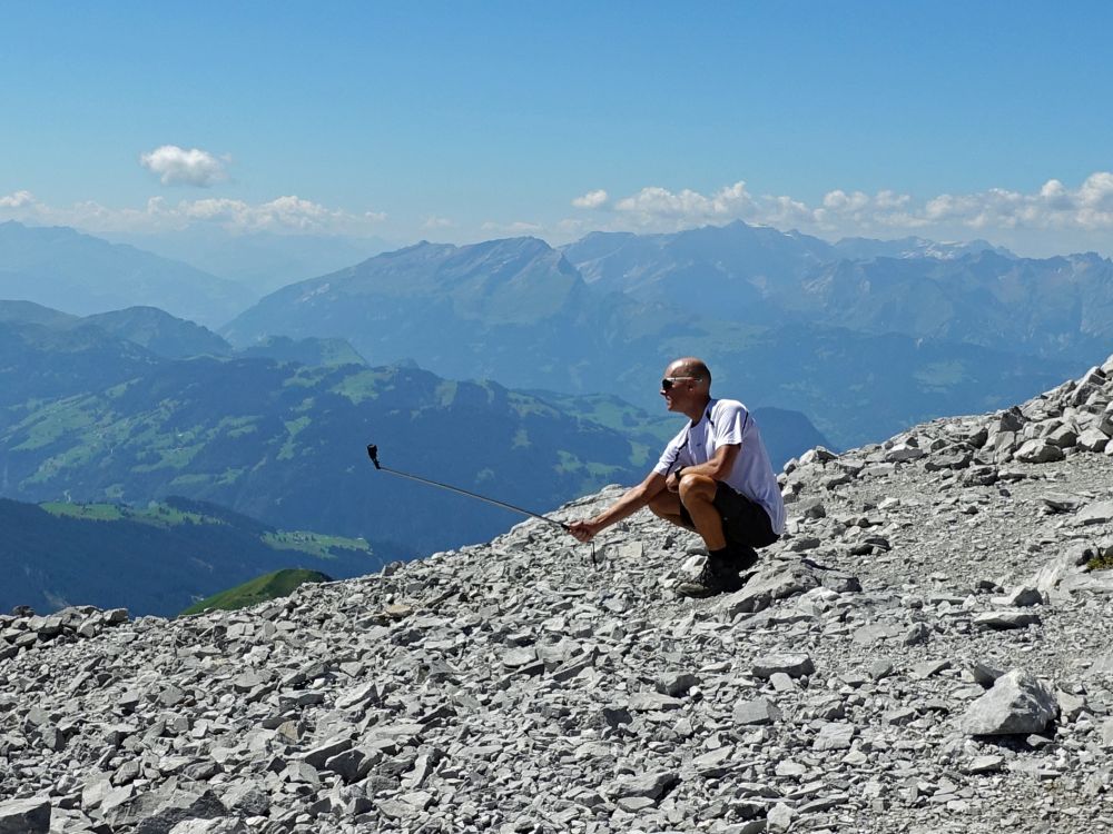
[(401, 244), (741, 218), (1110, 255), (1111, 23), (1107, 3), (7, 3), (0, 219)]

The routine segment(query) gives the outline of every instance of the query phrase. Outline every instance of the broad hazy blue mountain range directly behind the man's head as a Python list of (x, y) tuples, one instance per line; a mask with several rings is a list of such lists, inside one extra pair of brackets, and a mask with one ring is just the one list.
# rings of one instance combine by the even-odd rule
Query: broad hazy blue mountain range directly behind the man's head
[(240, 346), (339, 336), (376, 364), (406, 356), (450, 377), (647, 408), (669, 359), (697, 354), (720, 396), (801, 411), (840, 447), (1007, 404), (1113, 339), (1113, 316), (1100, 318), (1109, 261), (923, 249), (846, 260), (817, 238), (740, 222), (563, 250), (422, 244), (285, 287), (221, 332)]

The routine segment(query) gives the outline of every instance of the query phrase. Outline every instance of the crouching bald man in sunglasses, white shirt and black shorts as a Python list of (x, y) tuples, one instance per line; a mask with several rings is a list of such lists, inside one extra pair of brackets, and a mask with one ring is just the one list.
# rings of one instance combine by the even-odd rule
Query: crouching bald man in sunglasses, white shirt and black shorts
[(695, 530), (707, 563), (695, 579), (677, 585), (682, 596), (706, 597), (741, 587), (739, 572), (757, 562), (757, 547), (785, 532), (785, 503), (754, 416), (736, 399), (712, 399), (711, 371), (695, 357), (669, 364), (661, 396), (688, 425), (653, 471), (593, 518), (569, 526), (580, 542), (642, 507)]

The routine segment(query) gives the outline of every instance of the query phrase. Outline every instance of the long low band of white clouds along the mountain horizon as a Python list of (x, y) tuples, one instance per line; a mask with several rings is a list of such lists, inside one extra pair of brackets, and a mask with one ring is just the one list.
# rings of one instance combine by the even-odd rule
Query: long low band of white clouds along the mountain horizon
[[(1113, 172), (1095, 171), (1080, 185), (1048, 179), (1032, 191), (991, 188), (967, 193), (916, 197), (895, 190), (867, 193), (834, 189), (818, 199), (762, 195), (737, 181), (709, 192), (648, 186), (626, 196), (594, 189), (530, 220), (496, 222), (439, 214), (408, 221), (390, 218), (395, 239), (418, 239), (431, 230), (461, 241), (503, 235), (534, 235), (560, 244), (589, 231), (677, 231), (733, 220), (840, 237), (897, 238), (908, 235), (940, 241), (985, 238), (1021, 255), (1045, 257), (1096, 250), (1113, 256)], [(383, 211), (349, 212), (284, 195), (264, 202), (210, 197), (170, 202), (152, 197), (141, 208), (110, 208), (96, 201), (56, 208), (29, 190), (0, 193), (0, 220), (73, 226), (92, 234), (160, 232), (196, 226), (230, 231), (371, 236), (384, 231)]]

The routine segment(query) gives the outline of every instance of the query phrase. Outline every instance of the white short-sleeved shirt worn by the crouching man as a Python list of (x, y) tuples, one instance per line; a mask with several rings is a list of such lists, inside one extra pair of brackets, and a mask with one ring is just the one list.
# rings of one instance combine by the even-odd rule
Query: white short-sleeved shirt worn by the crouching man
[(754, 416), (737, 399), (712, 399), (695, 425), (691, 420), (661, 453), (653, 471), (668, 476), (682, 466), (706, 464), (720, 446), (741, 446), (723, 483), (758, 504), (778, 536), (785, 532), (785, 502), (769, 453)]

